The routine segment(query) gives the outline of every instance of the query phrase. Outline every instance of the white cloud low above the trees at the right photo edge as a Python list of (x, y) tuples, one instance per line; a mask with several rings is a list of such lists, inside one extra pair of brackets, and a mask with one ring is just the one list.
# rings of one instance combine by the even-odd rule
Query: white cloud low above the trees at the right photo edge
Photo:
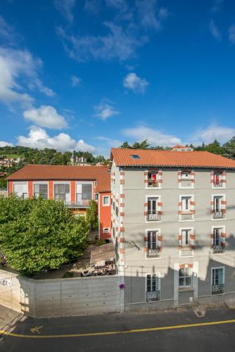
[(222, 127), (217, 125), (210, 125), (205, 129), (198, 130), (191, 137), (190, 143), (193, 144), (205, 144), (211, 143), (217, 139), (220, 143), (229, 141), (231, 137), (235, 136), (235, 129), (231, 127)]

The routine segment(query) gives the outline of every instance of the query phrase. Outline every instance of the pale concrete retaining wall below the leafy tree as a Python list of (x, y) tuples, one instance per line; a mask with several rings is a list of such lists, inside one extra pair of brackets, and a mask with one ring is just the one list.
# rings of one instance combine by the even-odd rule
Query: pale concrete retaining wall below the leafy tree
[(34, 318), (120, 312), (118, 275), (34, 280), (0, 270), (0, 304)]

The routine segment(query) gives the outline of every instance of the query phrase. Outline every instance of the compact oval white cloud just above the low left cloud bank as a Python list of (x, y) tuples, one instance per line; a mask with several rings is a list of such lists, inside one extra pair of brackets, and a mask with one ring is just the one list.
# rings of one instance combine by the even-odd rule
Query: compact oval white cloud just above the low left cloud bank
[(40, 106), (23, 112), (26, 120), (34, 122), (41, 127), (53, 128), (60, 130), (67, 127), (67, 122), (62, 115), (59, 115), (53, 106)]

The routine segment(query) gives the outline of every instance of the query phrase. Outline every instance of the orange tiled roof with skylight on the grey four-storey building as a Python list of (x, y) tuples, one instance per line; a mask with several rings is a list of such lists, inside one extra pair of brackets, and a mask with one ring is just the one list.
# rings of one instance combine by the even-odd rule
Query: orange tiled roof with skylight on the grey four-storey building
[(151, 149), (112, 148), (110, 160), (114, 160), (117, 166), (180, 166), (235, 169), (234, 160), (209, 153), (208, 151), (159, 151)]

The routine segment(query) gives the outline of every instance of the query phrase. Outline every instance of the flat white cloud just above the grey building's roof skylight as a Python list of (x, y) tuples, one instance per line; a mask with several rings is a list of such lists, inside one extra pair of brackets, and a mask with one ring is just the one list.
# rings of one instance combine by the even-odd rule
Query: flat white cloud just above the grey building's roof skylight
[(175, 144), (182, 143), (178, 137), (164, 134), (160, 130), (145, 126), (127, 128), (123, 130), (122, 133), (126, 137), (131, 137), (134, 142), (141, 142), (144, 139), (148, 139), (148, 142), (152, 146), (174, 146)]

